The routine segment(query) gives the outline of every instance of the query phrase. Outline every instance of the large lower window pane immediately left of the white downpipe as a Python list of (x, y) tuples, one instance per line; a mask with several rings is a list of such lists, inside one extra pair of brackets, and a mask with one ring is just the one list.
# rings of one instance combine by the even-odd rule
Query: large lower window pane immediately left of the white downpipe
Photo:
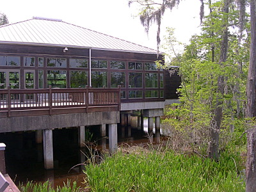
[(88, 81), (88, 72), (86, 71), (70, 71), (70, 87), (85, 88)]

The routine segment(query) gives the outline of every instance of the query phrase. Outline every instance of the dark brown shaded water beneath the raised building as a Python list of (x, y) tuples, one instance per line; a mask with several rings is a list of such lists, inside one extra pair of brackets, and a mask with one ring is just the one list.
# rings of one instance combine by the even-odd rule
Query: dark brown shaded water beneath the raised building
[[(127, 143), (143, 147), (148, 143), (158, 144), (164, 140), (161, 135), (170, 134), (164, 129), (156, 131), (155, 127), (148, 132), (147, 118), (143, 120), (143, 130), (138, 126), (138, 122), (140, 124), (138, 118), (132, 116), (131, 126), (118, 127), (118, 145)], [(108, 137), (100, 138), (99, 127), (92, 126), (90, 131), (93, 132), (93, 140), (97, 140), (97, 150), (106, 150)], [(108, 130), (106, 132), (108, 134)], [(6, 143), (6, 170), (15, 180), (15, 184), (19, 186), (19, 182), (26, 183), (28, 180), (35, 182), (49, 180), (52, 186), (56, 187), (63, 186), (63, 182), (67, 182), (68, 179), (70, 182), (76, 180), (79, 186), (85, 187), (84, 166), (77, 164), (86, 162), (84, 154), (88, 154), (88, 148), (78, 147), (77, 129), (54, 129), (52, 132), (54, 170), (44, 169), (43, 145), (36, 143), (35, 134), (35, 131), (0, 134), (0, 141)]]

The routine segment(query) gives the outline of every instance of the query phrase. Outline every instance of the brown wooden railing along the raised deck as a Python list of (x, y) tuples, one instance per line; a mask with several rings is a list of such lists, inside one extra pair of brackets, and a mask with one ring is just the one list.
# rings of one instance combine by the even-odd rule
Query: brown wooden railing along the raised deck
[(0, 90), (0, 117), (88, 113), (120, 109), (119, 88)]

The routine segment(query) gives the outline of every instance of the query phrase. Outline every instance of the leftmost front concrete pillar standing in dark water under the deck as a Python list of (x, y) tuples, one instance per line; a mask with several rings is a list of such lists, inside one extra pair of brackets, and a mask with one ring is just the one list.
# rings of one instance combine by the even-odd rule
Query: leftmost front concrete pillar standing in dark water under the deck
[(44, 140), (44, 168), (53, 169), (53, 147), (52, 147), (52, 129), (43, 130)]

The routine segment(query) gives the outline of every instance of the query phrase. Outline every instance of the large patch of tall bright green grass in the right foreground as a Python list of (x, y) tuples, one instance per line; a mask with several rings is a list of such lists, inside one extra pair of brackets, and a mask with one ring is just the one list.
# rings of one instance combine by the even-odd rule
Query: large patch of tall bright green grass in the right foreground
[(244, 191), (235, 159), (225, 152), (218, 163), (172, 151), (118, 152), (84, 173), (92, 191)]

